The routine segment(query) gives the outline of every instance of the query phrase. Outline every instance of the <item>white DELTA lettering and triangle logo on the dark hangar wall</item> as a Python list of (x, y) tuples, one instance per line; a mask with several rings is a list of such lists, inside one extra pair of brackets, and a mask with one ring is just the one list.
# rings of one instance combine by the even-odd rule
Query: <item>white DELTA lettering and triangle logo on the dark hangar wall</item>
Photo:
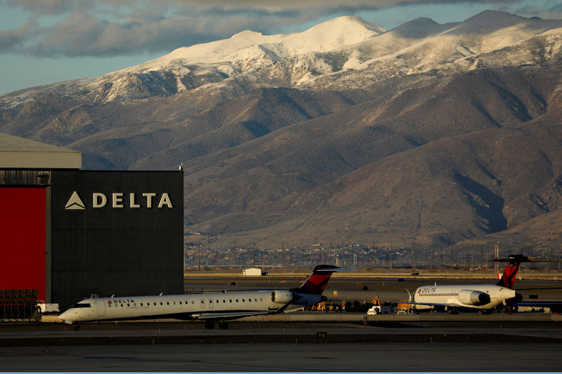
[[(137, 196), (138, 195), (138, 196)], [(131, 192), (125, 194), (124, 192), (114, 192), (108, 197), (101, 192), (93, 192), (91, 207), (92, 208), (174, 208), (171, 203), (170, 196), (167, 192), (157, 194), (155, 192), (143, 192), (136, 194)], [(66, 211), (85, 211), (86, 204), (81, 199), (78, 192), (72, 192), (70, 199), (65, 205)]]

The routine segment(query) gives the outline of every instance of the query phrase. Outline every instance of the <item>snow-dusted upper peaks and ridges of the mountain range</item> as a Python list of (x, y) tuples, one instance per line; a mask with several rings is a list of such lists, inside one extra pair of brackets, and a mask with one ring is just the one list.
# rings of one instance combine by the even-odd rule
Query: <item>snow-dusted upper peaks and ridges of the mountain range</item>
[(462, 72), (535, 62), (560, 51), (562, 21), (488, 11), (465, 22), (427, 19), (386, 32), (358, 17), (329, 20), (301, 33), (245, 31), (96, 79), (96, 101), (173, 94), (207, 84), (287, 88), (360, 88), (393, 76)]

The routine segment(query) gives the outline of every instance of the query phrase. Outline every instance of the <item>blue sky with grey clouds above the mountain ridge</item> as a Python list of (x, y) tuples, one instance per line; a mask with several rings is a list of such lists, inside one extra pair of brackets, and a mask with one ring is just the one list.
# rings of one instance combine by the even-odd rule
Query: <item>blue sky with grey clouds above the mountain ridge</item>
[(488, 9), (562, 19), (560, 0), (0, 0), (0, 95), (100, 76), (245, 29), (301, 32), (341, 15), (392, 29)]

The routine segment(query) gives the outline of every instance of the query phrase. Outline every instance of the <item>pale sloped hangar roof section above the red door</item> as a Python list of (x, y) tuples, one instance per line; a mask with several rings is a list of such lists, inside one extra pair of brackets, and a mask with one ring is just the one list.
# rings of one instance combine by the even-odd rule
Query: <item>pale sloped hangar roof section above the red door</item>
[(82, 154), (0, 133), (0, 168), (79, 169)]

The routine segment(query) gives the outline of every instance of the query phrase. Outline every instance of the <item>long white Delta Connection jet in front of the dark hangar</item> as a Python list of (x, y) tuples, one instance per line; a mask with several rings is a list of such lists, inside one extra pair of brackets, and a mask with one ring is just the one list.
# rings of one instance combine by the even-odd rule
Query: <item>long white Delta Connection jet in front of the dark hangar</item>
[(294, 312), (326, 300), (322, 291), (332, 273), (339, 270), (350, 269), (318, 265), (299, 288), (289, 290), (89, 298), (72, 305), (59, 319), (73, 324), (74, 330), (86, 321), (162, 318), (202, 319), (207, 328), (214, 328), (218, 321), (219, 328), (228, 328), (229, 319)]

